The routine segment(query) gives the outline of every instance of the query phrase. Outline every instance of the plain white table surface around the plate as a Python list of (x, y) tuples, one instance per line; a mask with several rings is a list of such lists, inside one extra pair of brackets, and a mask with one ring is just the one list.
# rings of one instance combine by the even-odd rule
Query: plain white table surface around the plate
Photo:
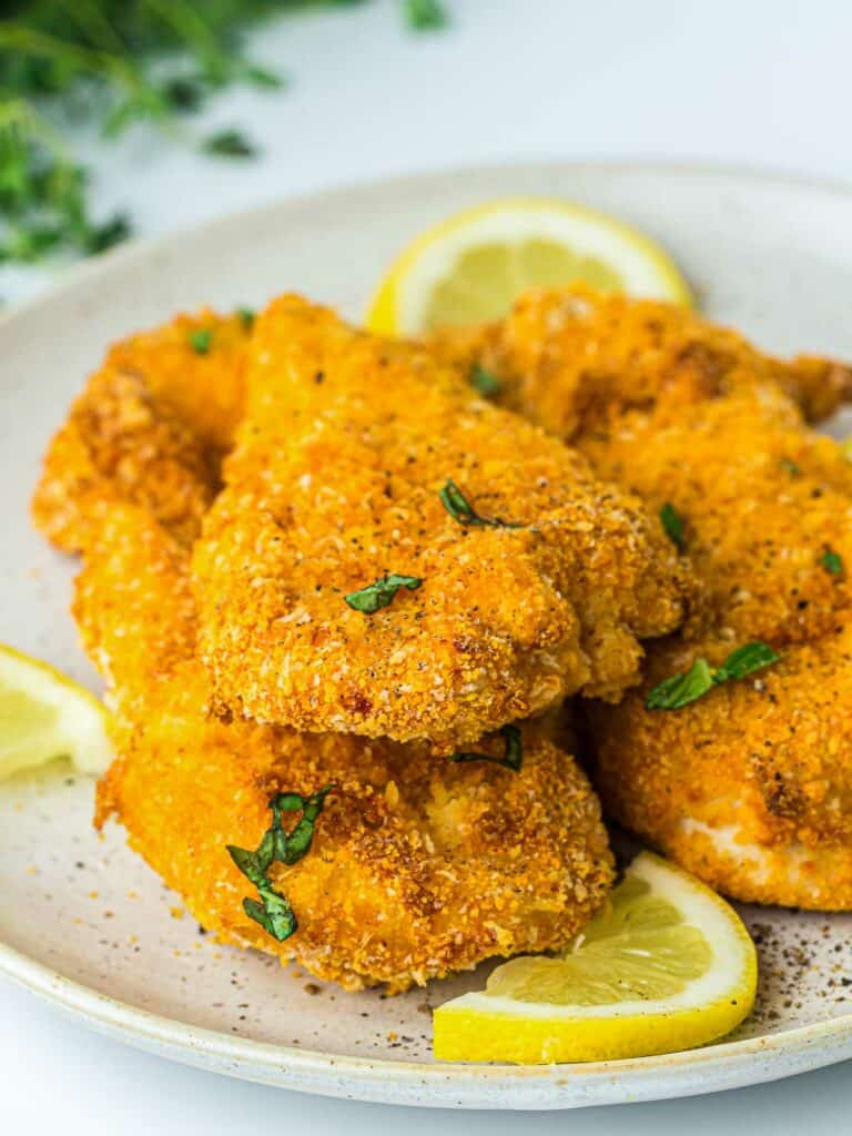
[[(394, 0), (289, 17), (254, 37), (285, 93), (229, 92), (193, 130), (236, 124), (254, 162), (203, 160), (145, 132), (90, 153), (105, 210), (141, 235), (383, 175), (526, 158), (659, 158), (850, 179), (849, 0), (446, 0), (450, 30), (407, 32)], [(0, 296), (50, 274), (0, 273)], [(808, 1136), (850, 1130), (852, 1069), (713, 1097), (565, 1113), (402, 1110), (217, 1078), (105, 1041), (0, 984), (0, 1133), (317, 1136)]]

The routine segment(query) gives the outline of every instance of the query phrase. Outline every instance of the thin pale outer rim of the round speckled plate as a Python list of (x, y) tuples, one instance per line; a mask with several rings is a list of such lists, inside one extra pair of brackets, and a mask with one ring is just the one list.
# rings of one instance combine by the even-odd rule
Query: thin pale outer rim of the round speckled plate
[[(57, 279), (45, 290), (22, 302), (12, 304), (0, 314), (0, 336), (5, 335), (16, 323), (37, 315), (42, 308), (61, 301), (76, 293), (90, 282), (97, 283), (100, 277), (112, 273), (132, 270), (160, 250), (174, 251), (175, 245), (193, 243), (204, 237), (216, 239), (233, 226), (241, 226), (250, 220), (257, 222), (265, 216), (275, 216), (282, 209), (298, 211), (300, 208), (332, 207), (335, 201), (351, 201), (353, 195), (370, 197), (377, 192), (404, 193), (423, 186), (436, 186), (440, 183), (463, 177), (487, 177), (506, 175), (512, 170), (527, 173), (559, 172), (561, 174), (615, 175), (650, 175), (677, 177), (687, 179), (729, 179), (753, 185), (772, 185), (790, 192), (808, 192), (833, 198), (842, 198), (852, 203), (852, 181), (842, 178), (811, 177), (808, 175), (775, 170), (767, 167), (750, 167), (743, 164), (717, 164), (692, 161), (646, 161), (620, 159), (591, 160), (517, 160), (491, 161), (474, 165), (449, 166), (415, 170), (403, 175), (381, 178), (365, 178), (352, 183), (341, 183), (315, 192), (306, 192), (291, 197), (272, 198), (261, 203), (231, 210), (211, 217), (198, 225), (192, 225), (160, 234), (158, 236), (131, 241), (106, 253), (89, 260), (70, 265), (58, 273)], [(1, 932), (0, 932), (1, 933)], [(177, 1018), (143, 1010), (132, 1003), (100, 993), (94, 987), (86, 986), (68, 978), (59, 970), (42, 963), (18, 951), (0, 939), (0, 974), (12, 979), (20, 986), (41, 995), (61, 1009), (80, 1017), (87, 1025), (102, 1031), (119, 1036), (128, 1044), (141, 1045), (157, 1050), (158, 1045), (172, 1047), (169, 1053), (175, 1060), (193, 1062), (193, 1054), (227, 1062), (243, 1062), (278, 1077), (269, 1083), (281, 1083), (281, 1072), (301, 1072), (315, 1077), (328, 1078), (327, 1084), (318, 1080), (316, 1084), (292, 1084), (293, 1089), (318, 1092), (326, 1095), (345, 1095), (335, 1089), (332, 1081), (351, 1075), (365, 1088), (379, 1088), (382, 1085), (393, 1085), (417, 1079), (419, 1087), (434, 1089), (443, 1086), (444, 1093), (435, 1101), (417, 1101), (416, 1103), (446, 1104), (449, 1100), (465, 1089), (481, 1086), (498, 1089), (493, 1104), (508, 1097), (512, 1091), (521, 1086), (531, 1089), (558, 1088), (560, 1085), (574, 1085), (579, 1081), (594, 1084), (610, 1083), (621, 1074), (668, 1074), (673, 1080), (667, 1083), (666, 1092), (658, 1086), (650, 1093), (632, 1092), (633, 1100), (651, 1100), (665, 1096), (680, 1096), (707, 1092), (707, 1088), (693, 1085), (687, 1078), (701, 1076), (713, 1070), (725, 1070), (732, 1064), (737, 1067), (742, 1059), (760, 1056), (763, 1067), (759, 1076), (749, 1074), (743, 1084), (757, 1084), (799, 1072), (807, 1069), (835, 1063), (852, 1056), (852, 1012), (841, 1014), (826, 1021), (797, 1026), (779, 1030), (776, 1034), (765, 1034), (758, 1037), (743, 1038), (735, 1042), (719, 1042), (708, 1046), (684, 1050), (677, 1053), (659, 1054), (645, 1058), (633, 1058), (619, 1061), (578, 1062), (549, 1066), (513, 1066), (513, 1064), (477, 1064), (463, 1062), (391, 1061), (385, 1058), (360, 1058), (350, 1054), (335, 1054), (321, 1050), (302, 1049), (301, 1046), (278, 1045), (272, 1042), (260, 1042), (225, 1034), (207, 1027), (193, 1026)], [(830, 1043), (826, 1051), (826, 1043)], [(813, 1047), (812, 1056), (802, 1058), (809, 1047)], [(175, 1052), (178, 1051), (178, 1052)], [(777, 1068), (785, 1059), (790, 1059), (795, 1068), (788, 1070)], [(220, 1071), (233, 1076), (245, 1076), (236, 1068), (222, 1068)], [(258, 1076), (250, 1079), (261, 1079)], [(350, 1094), (352, 1095), (352, 1094)], [(373, 1097), (382, 1100), (383, 1094)], [(615, 1096), (612, 1097), (616, 1099)], [(401, 1101), (400, 1103), (415, 1103)], [(456, 1099), (457, 1104), (467, 1102)], [(474, 1106), (479, 1106), (479, 1101)], [(595, 1103), (594, 1101), (560, 1101), (554, 1094), (550, 1104), (544, 1106), (559, 1108), (567, 1103)], [(603, 1103), (603, 1102), (601, 1102)], [(517, 1106), (531, 1106), (531, 1102)], [(533, 1104), (533, 1106), (535, 1106)]]

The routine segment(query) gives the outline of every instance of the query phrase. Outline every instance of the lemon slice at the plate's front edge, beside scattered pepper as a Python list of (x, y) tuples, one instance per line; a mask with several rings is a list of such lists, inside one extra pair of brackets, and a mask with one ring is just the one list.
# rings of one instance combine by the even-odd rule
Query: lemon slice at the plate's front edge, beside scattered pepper
[(560, 958), (513, 959), (435, 1011), (444, 1061), (603, 1061), (730, 1033), (754, 1004), (754, 944), (736, 912), (650, 852)]

